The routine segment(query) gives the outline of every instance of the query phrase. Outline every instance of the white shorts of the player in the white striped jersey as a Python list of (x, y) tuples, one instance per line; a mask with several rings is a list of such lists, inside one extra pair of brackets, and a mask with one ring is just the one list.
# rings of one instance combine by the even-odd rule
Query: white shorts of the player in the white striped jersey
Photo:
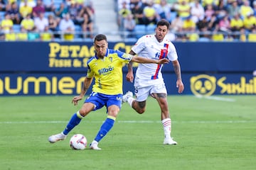
[(137, 101), (146, 101), (146, 98), (151, 94), (167, 94), (167, 91), (164, 84), (146, 86), (139, 89), (135, 86), (134, 94)]

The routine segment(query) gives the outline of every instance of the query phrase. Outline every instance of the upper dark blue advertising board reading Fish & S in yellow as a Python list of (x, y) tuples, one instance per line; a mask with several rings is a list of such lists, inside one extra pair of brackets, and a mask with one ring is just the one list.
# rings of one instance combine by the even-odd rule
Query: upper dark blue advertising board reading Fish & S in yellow
[[(253, 42), (174, 42), (183, 72), (252, 72)], [(110, 42), (129, 52), (133, 43)], [(95, 55), (91, 42), (0, 42), (0, 72), (85, 72)], [(165, 66), (173, 70), (172, 65)], [(126, 68), (124, 68), (126, 69)]]

